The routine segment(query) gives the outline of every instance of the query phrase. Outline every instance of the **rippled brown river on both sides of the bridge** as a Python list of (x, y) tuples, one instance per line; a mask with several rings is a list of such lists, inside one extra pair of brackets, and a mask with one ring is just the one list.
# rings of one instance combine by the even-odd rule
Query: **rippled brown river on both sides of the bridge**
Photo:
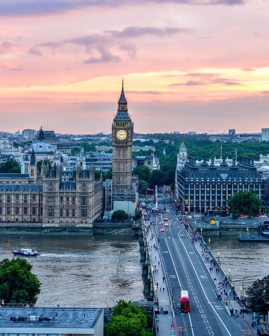
[[(208, 243), (208, 238), (206, 239)], [(0, 236), (0, 259), (13, 257), (13, 250), (33, 248), (41, 255), (28, 258), (42, 283), (38, 304), (98, 304), (113, 306), (120, 299), (143, 299), (139, 243), (119, 236)], [(268, 243), (243, 243), (237, 237), (210, 238), (210, 248), (238, 293), (269, 274)], [(119, 267), (117, 263), (119, 260)], [(118, 268), (118, 270), (117, 270)], [(118, 271), (118, 276), (117, 276)]]

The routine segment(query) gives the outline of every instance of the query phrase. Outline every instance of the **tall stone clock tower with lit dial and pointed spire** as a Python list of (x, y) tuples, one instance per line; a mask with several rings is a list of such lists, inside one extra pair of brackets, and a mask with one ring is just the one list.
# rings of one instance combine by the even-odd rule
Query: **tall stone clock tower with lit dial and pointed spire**
[[(113, 196), (126, 194), (132, 186), (132, 140), (133, 123), (128, 114), (127, 100), (122, 89), (118, 101), (118, 111), (112, 124), (112, 183)], [(124, 192), (125, 191), (125, 192)], [(123, 200), (123, 198), (121, 198)], [(125, 198), (126, 199), (126, 198)]]

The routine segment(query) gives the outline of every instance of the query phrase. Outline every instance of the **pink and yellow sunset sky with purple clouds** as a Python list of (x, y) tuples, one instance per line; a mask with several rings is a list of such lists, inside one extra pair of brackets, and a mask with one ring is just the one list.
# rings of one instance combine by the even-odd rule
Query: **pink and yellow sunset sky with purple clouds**
[(266, 0), (1, 0), (0, 130), (269, 127)]

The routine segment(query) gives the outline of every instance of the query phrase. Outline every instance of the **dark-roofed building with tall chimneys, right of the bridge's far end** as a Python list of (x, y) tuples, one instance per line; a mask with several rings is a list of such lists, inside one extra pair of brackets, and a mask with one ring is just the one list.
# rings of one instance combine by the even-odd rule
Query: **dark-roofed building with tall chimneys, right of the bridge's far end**
[(177, 202), (180, 209), (193, 212), (228, 210), (227, 201), (235, 192), (254, 189), (264, 202), (264, 180), (254, 166), (254, 159), (242, 157), (228, 166), (225, 158), (219, 166), (206, 157), (199, 165), (193, 157), (177, 171)]

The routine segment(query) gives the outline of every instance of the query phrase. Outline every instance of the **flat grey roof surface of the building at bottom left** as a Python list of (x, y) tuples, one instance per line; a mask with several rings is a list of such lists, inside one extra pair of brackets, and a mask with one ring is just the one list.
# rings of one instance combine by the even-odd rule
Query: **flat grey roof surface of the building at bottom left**
[[(74, 307), (0, 307), (0, 328), (66, 328), (67, 326), (68, 328), (94, 328), (101, 311), (102, 308), (99, 307), (85, 309)], [(27, 321), (28, 316), (38, 316), (39, 318), (44, 318), (44, 320), (38, 321), (37, 318), (37, 321)], [(13, 320), (16, 318), (15, 320), (17, 321), (11, 321), (11, 318)], [(24, 321), (25, 318), (26, 321)]]

